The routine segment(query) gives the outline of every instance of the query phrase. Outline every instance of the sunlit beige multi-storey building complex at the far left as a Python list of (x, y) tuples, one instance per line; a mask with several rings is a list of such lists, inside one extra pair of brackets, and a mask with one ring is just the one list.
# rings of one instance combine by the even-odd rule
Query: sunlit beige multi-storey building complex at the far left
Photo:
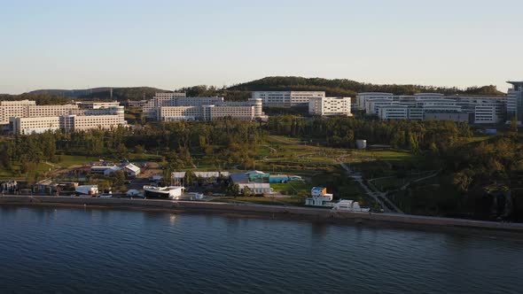
[(36, 105), (35, 101), (0, 102), (2, 125), (12, 134), (28, 135), (47, 130), (74, 132), (90, 128), (126, 126), (124, 109), (115, 103)]

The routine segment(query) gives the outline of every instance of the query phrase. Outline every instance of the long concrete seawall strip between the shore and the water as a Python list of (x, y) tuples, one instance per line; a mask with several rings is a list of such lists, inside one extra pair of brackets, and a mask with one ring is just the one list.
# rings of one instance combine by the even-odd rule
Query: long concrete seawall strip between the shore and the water
[(237, 215), (263, 215), (274, 219), (300, 219), (346, 223), (396, 223), (415, 226), (486, 228), (523, 233), (523, 224), (494, 221), (471, 221), (393, 213), (350, 213), (321, 208), (233, 204), (196, 201), (168, 201), (129, 198), (2, 196), (0, 205), (98, 206), (142, 210), (165, 210), (206, 213), (234, 213)]

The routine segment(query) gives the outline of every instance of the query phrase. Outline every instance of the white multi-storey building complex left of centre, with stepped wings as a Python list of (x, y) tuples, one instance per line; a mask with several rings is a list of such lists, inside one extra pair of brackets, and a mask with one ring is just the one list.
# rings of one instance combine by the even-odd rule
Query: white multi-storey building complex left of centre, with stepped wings
[[(237, 120), (262, 120), (262, 99), (244, 102), (225, 102), (223, 97), (170, 97), (158, 93), (146, 105), (144, 116), (148, 120), (218, 120), (230, 117)], [(175, 94), (175, 93), (167, 93)], [(181, 93), (176, 93), (181, 94)]]

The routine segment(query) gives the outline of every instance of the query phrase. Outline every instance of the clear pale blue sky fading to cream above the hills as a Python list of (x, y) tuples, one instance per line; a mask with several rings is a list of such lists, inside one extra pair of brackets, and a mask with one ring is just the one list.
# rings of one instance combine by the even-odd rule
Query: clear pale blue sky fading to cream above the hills
[(523, 80), (521, 0), (0, 0), (0, 93)]

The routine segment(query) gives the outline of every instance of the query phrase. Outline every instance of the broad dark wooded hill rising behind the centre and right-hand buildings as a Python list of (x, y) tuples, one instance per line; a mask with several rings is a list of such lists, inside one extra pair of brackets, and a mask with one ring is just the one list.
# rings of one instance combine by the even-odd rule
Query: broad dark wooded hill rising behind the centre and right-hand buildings
[(327, 96), (355, 97), (361, 92), (386, 92), (397, 95), (412, 95), (416, 93), (435, 92), (442, 94), (468, 95), (503, 95), (496, 86), (469, 87), (467, 89), (445, 88), (421, 85), (377, 85), (351, 81), (347, 79), (327, 80), (322, 78), (302, 78), (297, 76), (271, 76), (260, 80), (241, 83), (229, 88), (230, 90), (319, 90), (325, 91)]

